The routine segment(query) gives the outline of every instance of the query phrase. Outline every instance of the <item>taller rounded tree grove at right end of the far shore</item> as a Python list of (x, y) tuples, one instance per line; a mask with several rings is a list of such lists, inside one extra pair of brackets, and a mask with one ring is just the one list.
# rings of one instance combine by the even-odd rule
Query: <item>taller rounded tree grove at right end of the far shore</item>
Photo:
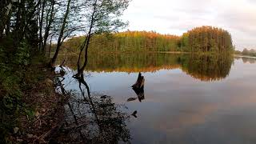
[(182, 35), (181, 46), (192, 52), (233, 52), (234, 46), (228, 31), (212, 26), (196, 27)]

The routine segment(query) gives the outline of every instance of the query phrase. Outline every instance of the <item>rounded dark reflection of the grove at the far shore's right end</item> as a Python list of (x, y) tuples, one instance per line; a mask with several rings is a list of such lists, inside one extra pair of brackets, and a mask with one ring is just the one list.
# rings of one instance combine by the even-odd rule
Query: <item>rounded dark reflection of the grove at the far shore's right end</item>
[(231, 55), (225, 54), (190, 54), (185, 60), (183, 59), (182, 70), (202, 81), (214, 81), (226, 78), (233, 60)]

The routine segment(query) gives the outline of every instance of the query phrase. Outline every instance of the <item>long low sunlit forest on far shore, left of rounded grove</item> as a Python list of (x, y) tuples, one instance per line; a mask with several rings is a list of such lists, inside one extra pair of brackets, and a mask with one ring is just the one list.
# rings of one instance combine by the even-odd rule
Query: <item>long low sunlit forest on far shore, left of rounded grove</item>
[[(70, 38), (63, 46), (76, 50), (83, 36)], [(130, 51), (176, 51), (179, 37), (158, 34), (154, 31), (125, 31), (113, 34), (97, 34), (91, 40), (90, 51), (94, 52), (130, 52)]]

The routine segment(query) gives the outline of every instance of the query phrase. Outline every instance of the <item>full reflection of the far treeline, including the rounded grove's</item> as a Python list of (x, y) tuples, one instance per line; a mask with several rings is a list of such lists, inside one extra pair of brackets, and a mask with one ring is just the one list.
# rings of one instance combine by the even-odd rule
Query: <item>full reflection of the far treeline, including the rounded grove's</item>
[[(62, 59), (59, 57), (59, 62)], [(75, 69), (76, 59), (75, 55), (69, 55), (67, 66)], [(202, 81), (218, 81), (230, 73), (233, 61), (234, 58), (229, 54), (91, 54), (86, 70), (135, 73), (181, 69)]]

